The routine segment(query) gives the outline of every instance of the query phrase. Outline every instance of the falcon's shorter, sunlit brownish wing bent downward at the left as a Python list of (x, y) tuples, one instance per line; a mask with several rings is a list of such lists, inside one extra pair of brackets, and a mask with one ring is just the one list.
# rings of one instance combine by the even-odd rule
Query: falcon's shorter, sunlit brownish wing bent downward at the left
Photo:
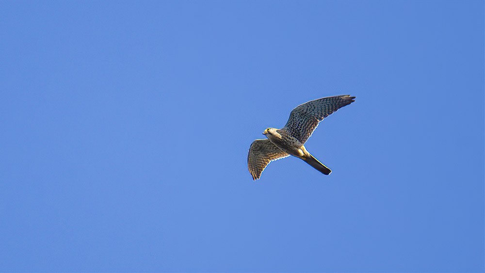
[(247, 154), (247, 168), (253, 176), (253, 180), (259, 179), (264, 168), (274, 160), (286, 158), (289, 154), (283, 152), (269, 139), (257, 139), (253, 141)]

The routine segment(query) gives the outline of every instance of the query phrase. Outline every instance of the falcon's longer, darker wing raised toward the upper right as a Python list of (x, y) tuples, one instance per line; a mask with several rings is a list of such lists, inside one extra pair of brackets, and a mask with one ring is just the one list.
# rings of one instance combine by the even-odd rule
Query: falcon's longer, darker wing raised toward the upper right
[(355, 96), (327, 96), (308, 101), (297, 106), (290, 113), (290, 118), (283, 129), (286, 129), (304, 144), (311, 136), (318, 123), (340, 107), (354, 102)]

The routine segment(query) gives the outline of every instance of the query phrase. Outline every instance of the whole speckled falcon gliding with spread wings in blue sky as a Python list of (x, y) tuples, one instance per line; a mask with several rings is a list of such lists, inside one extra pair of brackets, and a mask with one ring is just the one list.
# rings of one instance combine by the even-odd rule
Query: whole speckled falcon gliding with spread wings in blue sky
[(355, 98), (340, 95), (308, 101), (291, 111), (285, 127), (265, 129), (263, 135), (266, 139), (253, 141), (247, 155), (247, 167), (253, 180), (261, 177), (261, 173), (271, 161), (289, 156), (297, 157), (322, 174), (329, 175), (332, 171), (313, 157), (304, 144), (325, 117), (351, 104)]

